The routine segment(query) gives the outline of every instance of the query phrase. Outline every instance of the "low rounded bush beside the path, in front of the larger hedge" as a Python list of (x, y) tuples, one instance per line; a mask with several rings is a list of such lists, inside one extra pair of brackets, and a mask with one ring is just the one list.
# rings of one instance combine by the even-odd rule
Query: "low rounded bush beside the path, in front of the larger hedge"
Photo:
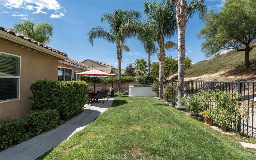
[(25, 118), (27, 131), (31, 136), (37, 136), (43, 132), (56, 128), (59, 124), (59, 113), (56, 109), (32, 110)]

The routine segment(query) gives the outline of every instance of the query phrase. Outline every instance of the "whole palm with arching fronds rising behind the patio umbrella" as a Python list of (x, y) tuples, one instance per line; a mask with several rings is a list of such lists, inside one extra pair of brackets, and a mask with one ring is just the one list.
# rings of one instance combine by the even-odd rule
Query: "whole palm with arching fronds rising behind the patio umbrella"
[(120, 26), (123, 22), (128, 20), (138, 20), (141, 17), (141, 13), (134, 10), (114, 10), (112, 13), (105, 13), (101, 17), (101, 21), (108, 23), (109, 31), (103, 27), (93, 27), (88, 35), (89, 41), (93, 45), (93, 39), (103, 38), (110, 43), (116, 43), (116, 53), (118, 60), (118, 92), (121, 92), (121, 62), (122, 62), (122, 49), (129, 52), (130, 49), (127, 45), (124, 45), (127, 35), (120, 31)]

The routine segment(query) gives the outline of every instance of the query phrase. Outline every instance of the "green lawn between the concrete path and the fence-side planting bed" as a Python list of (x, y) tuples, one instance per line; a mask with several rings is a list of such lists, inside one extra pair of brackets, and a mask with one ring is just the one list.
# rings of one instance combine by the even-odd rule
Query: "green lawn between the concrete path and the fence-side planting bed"
[(256, 159), (235, 140), (163, 101), (119, 94), (111, 108), (39, 159), (108, 159), (111, 155), (127, 159)]

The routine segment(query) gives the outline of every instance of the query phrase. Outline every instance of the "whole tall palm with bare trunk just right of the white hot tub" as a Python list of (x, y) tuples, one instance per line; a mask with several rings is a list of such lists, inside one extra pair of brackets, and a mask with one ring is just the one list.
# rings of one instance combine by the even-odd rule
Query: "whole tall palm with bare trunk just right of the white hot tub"
[(132, 37), (142, 36), (145, 39), (154, 38), (158, 45), (157, 56), (159, 60), (159, 97), (162, 98), (164, 84), (164, 41), (177, 32), (175, 8), (168, 1), (145, 2), (144, 12), (148, 15), (148, 22), (129, 20), (120, 27), (122, 32)]

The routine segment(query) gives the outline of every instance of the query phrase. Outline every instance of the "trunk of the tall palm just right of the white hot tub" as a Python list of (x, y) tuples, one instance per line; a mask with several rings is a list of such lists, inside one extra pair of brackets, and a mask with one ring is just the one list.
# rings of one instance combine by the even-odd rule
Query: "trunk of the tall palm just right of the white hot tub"
[(163, 87), (164, 87), (164, 58), (165, 58), (165, 51), (164, 51), (164, 45), (160, 43), (159, 50), (157, 53), (158, 60), (159, 60), (159, 94), (158, 97), (163, 99)]

